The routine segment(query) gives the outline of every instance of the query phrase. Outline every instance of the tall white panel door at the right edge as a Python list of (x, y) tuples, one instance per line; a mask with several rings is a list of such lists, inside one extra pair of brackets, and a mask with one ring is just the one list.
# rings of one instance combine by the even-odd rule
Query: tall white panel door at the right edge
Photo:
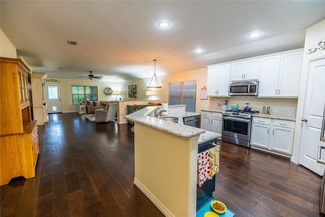
[(325, 102), (325, 57), (310, 62), (306, 89), (304, 116), (299, 152), (299, 163), (318, 175), (323, 175), (324, 165), (316, 162), (323, 107)]

